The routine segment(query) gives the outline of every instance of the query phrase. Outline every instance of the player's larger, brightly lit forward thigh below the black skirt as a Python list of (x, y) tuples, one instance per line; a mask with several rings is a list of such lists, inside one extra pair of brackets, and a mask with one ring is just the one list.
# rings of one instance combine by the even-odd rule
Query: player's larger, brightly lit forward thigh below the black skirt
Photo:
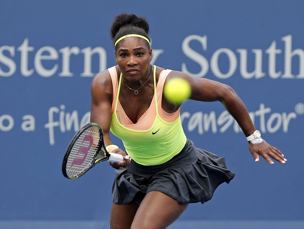
[(140, 203), (131, 229), (167, 228), (180, 217), (187, 207), (188, 204), (179, 203), (164, 193), (149, 192)]

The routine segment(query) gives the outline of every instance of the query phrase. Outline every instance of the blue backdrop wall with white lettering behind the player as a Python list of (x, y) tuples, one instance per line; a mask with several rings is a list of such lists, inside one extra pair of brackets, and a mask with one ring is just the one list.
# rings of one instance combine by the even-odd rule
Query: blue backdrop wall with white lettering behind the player
[(189, 205), (180, 220), (304, 220), (303, 2), (0, 5), (2, 223), (108, 222), (114, 170), (99, 165), (71, 181), (62, 176), (61, 162), (75, 132), (89, 121), (92, 77), (115, 65), (109, 28), (121, 12), (146, 16), (157, 66), (232, 86), (262, 137), (288, 159), (285, 165), (255, 163), (221, 103), (186, 101), (181, 118), (187, 137), (226, 156), (236, 176), (211, 201)]

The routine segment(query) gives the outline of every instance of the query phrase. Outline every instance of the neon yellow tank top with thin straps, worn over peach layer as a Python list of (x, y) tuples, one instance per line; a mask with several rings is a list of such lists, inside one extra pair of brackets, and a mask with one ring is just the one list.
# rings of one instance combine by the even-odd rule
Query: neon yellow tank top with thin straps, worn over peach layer
[[(152, 127), (147, 130), (133, 130), (119, 122), (116, 111), (121, 81), (122, 73), (119, 78), (115, 110), (111, 117), (111, 132), (123, 141), (126, 152), (135, 162), (141, 165), (159, 165), (167, 162), (183, 149), (187, 138), (181, 125), (180, 116), (173, 122), (167, 122), (158, 114), (158, 106), (161, 104), (157, 104), (156, 66), (154, 65), (156, 118)], [(151, 103), (151, 105), (153, 104)]]

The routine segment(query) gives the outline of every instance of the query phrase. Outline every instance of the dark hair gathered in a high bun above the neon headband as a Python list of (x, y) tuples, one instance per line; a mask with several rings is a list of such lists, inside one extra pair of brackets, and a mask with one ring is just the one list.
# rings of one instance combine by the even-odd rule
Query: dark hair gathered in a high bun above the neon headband
[(128, 34), (145, 36), (151, 41), (151, 38), (148, 35), (149, 23), (145, 18), (126, 13), (116, 15), (111, 26), (111, 39), (113, 44), (115, 44), (120, 37)]

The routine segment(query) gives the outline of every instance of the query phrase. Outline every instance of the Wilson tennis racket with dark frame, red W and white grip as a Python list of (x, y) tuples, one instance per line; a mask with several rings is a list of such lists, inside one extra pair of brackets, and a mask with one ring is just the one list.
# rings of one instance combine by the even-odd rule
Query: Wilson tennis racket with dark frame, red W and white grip
[(68, 179), (76, 179), (100, 162), (123, 161), (123, 156), (105, 149), (102, 129), (97, 123), (89, 123), (74, 136), (62, 162), (62, 173)]

